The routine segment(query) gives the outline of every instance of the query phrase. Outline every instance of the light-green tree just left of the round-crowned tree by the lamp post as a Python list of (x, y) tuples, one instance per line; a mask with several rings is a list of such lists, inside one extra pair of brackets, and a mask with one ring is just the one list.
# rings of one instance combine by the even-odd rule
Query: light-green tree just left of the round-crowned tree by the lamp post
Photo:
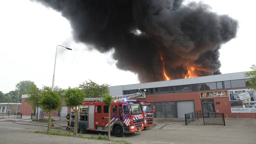
[(25, 99), (25, 101), (32, 106), (33, 110), (37, 107), (37, 116), (38, 118), (38, 107), (39, 107), (39, 101), (42, 97), (41, 90), (36, 87), (35, 84), (32, 84), (29, 87), (29, 90), (27, 91), (27, 94), (29, 94), (29, 97)]

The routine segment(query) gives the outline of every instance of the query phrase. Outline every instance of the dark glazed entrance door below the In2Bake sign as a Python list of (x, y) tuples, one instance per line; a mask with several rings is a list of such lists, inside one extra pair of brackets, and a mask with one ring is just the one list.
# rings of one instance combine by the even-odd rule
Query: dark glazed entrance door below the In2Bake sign
[[(201, 100), (201, 104), (202, 104), (202, 112), (204, 114), (206, 114), (206, 113), (208, 113), (208, 114), (215, 113), (215, 107), (214, 107), (214, 100), (213, 99)], [(204, 116), (206, 116), (206, 115), (204, 115)]]

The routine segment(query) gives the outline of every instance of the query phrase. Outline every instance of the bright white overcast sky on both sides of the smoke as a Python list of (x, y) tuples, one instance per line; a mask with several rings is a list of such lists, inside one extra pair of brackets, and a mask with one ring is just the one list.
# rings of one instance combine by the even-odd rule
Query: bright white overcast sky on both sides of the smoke
[[(220, 49), (220, 71), (249, 71), (251, 64), (256, 64), (256, 1), (202, 2), (209, 4), (212, 11), (239, 21), (237, 37)], [(69, 22), (60, 13), (29, 0), (8, 0), (0, 1), (0, 91), (15, 90), (22, 80), (34, 81), (39, 88), (51, 86), (57, 45), (73, 50), (58, 47), (55, 86), (77, 87), (89, 79), (111, 86), (139, 83), (136, 74), (117, 69), (117, 61), (112, 58), (114, 50), (100, 53), (75, 42)]]

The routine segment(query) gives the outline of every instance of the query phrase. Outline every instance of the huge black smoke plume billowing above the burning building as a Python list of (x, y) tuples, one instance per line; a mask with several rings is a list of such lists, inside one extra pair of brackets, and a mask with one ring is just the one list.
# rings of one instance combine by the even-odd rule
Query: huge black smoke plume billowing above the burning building
[(76, 41), (100, 52), (115, 49), (117, 67), (140, 82), (220, 74), (219, 49), (236, 36), (238, 22), (208, 5), (182, 0), (37, 0), (69, 20)]

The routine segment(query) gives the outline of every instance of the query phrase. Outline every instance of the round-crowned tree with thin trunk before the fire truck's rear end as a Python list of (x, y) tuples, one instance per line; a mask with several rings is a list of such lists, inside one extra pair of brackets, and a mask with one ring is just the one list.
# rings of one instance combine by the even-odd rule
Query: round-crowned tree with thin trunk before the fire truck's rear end
[(65, 92), (65, 103), (70, 108), (75, 108), (74, 135), (77, 134), (77, 106), (80, 105), (85, 98), (84, 92), (79, 88), (68, 88)]

